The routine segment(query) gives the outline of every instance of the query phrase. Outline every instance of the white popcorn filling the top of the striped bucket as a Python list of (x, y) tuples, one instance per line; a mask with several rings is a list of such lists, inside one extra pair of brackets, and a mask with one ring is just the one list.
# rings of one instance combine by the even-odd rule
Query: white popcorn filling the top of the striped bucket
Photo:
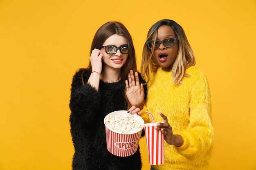
[(115, 117), (107, 116), (105, 119), (106, 126), (117, 133), (128, 134), (138, 132), (143, 128), (144, 122), (141, 122), (137, 116), (130, 114), (117, 115)]

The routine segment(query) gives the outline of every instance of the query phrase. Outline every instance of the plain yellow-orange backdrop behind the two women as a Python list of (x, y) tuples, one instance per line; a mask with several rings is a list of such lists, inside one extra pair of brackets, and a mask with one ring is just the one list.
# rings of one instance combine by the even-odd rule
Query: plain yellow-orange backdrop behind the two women
[(71, 170), (70, 84), (88, 65), (95, 32), (124, 23), (139, 68), (146, 33), (161, 19), (184, 28), (209, 79), (209, 170), (256, 170), (256, 0), (0, 0), (0, 170)]

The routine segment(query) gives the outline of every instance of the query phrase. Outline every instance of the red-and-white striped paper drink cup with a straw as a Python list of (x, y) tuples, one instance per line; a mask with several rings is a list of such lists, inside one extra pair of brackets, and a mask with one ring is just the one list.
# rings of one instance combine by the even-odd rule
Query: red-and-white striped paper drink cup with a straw
[(150, 165), (164, 163), (164, 134), (161, 130), (155, 130), (156, 124), (144, 124)]

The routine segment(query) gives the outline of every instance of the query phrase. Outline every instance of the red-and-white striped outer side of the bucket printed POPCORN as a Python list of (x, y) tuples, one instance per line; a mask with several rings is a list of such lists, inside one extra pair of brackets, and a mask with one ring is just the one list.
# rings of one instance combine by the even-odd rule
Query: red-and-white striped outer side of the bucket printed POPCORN
[(110, 153), (119, 157), (128, 157), (134, 154), (139, 146), (142, 129), (131, 135), (118, 134), (106, 126), (107, 148)]

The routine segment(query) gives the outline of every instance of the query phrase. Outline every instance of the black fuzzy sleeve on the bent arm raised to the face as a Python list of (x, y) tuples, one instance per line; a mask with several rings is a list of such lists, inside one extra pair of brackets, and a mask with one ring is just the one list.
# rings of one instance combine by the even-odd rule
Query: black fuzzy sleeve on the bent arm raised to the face
[(100, 109), (100, 93), (87, 84), (90, 74), (85, 71), (83, 75), (84, 85), (82, 83), (83, 70), (79, 70), (73, 77), (70, 96), (70, 110), (81, 121), (92, 122), (97, 117), (97, 111)]

